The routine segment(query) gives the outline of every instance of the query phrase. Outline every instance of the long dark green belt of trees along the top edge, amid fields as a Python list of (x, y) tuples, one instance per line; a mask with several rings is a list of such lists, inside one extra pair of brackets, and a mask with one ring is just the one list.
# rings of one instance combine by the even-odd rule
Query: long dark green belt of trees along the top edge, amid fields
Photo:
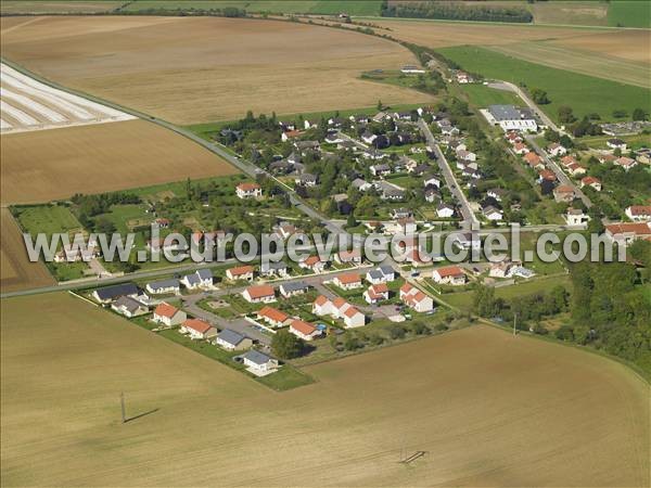
[(534, 20), (528, 10), (519, 7), (463, 5), (434, 1), (392, 4), (383, 2), (382, 16), (520, 23), (529, 23)]

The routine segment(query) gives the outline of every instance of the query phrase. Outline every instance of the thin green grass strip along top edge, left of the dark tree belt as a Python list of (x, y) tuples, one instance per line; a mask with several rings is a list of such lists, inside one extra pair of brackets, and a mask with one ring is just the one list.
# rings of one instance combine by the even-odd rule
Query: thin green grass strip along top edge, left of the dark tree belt
[(127, 5), (124, 10), (127, 12), (138, 12), (148, 9), (224, 9), (226, 7), (235, 7), (246, 10), (247, 12), (271, 12), (271, 13), (305, 13), (305, 14), (339, 14), (345, 12), (349, 15), (379, 15), (380, 0), (352, 0), (352, 1), (328, 1), (328, 0), (296, 0), (296, 1), (161, 1), (161, 0), (143, 0), (135, 1)]

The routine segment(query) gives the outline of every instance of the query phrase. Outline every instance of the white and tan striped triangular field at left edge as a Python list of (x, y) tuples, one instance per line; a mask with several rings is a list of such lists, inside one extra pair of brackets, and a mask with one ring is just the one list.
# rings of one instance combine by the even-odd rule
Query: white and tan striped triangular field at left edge
[(58, 90), (2, 63), (0, 131), (44, 130), (129, 120), (132, 115)]

